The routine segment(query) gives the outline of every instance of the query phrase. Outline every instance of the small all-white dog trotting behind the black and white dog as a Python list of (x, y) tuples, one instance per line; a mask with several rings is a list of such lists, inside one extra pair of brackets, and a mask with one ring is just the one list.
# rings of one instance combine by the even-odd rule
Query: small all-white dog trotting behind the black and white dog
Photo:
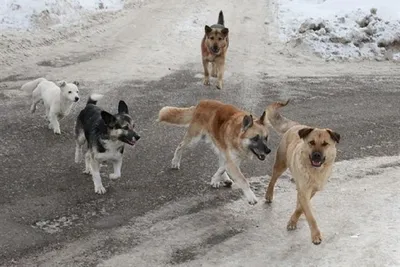
[(36, 111), (36, 105), (42, 100), (46, 108), (46, 118), (50, 122), (49, 129), (55, 134), (61, 134), (59, 119), (64, 118), (71, 111), (74, 102), (79, 100), (78, 82), (65, 81), (50, 82), (45, 78), (30, 81), (21, 87), (21, 90), (32, 94), (31, 112)]

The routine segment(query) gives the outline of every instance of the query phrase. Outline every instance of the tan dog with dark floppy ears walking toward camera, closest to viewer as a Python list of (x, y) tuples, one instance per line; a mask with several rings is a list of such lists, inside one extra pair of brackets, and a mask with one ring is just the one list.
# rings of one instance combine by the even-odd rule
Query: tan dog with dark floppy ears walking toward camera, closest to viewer
[(289, 103), (275, 102), (267, 107), (269, 123), (283, 134), (276, 152), (275, 164), (265, 199), (272, 202), (274, 186), (279, 176), (289, 168), (296, 182), (297, 206), (287, 229), (294, 230), (302, 213), (306, 216), (311, 230), (311, 240), (318, 245), (322, 241), (321, 232), (313, 216), (310, 200), (317, 191), (323, 189), (336, 158), (336, 143), (340, 135), (330, 129), (312, 128), (291, 121), (277, 111)]

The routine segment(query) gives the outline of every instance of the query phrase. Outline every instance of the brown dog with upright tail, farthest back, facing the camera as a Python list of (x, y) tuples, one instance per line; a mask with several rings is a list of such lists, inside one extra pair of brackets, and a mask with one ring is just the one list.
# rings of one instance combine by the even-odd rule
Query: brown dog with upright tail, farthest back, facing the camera
[(210, 85), (209, 63), (212, 64), (211, 76), (218, 78), (217, 88), (222, 89), (225, 57), (229, 46), (229, 29), (224, 26), (224, 14), (219, 12), (217, 24), (205, 26), (205, 35), (201, 41), (201, 56), (204, 67), (204, 85)]

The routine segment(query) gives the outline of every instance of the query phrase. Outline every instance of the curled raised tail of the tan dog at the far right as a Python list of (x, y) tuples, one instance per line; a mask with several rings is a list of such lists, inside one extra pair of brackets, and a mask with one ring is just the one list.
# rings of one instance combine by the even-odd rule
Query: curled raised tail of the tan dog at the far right
[(275, 131), (281, 134), (284, 134), (287, 130), (299, 124), (298, 122), (285, 118), (278, 112), (278, 109), (289, 104), (289, 101), (290, 100), (286, 102), (274, 102), (265, 110), (269, 124), (271, 124)]

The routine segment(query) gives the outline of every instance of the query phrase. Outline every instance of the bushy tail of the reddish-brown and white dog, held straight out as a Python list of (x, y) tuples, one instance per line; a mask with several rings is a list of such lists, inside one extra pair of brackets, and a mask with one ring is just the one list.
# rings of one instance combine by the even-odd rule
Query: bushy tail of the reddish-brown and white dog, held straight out
[(157, 121), (188, 126), (192, 121), (195, 109), (195, 106), (189, 108), (163, 107), (158, 113)]

